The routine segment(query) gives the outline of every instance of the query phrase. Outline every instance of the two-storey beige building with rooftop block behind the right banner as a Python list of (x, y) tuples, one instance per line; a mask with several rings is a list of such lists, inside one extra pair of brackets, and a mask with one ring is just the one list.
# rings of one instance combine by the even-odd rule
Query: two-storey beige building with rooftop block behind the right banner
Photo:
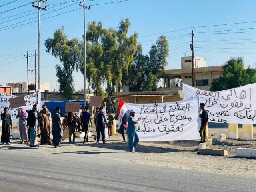
[[(205, 58), (194, 56), (194, 87), (208, 91), (211, 83), (218, 79), (222, 71), (222, 66), (206, 67)], [(157, 90), (168, 90), (175, 87), (176, 84), (171, 82), (176, 78), (192, 86), (192, 56), (182, 57), (181, 68), (165, 70), (161, 78), (163, 78), (164, 87)]]

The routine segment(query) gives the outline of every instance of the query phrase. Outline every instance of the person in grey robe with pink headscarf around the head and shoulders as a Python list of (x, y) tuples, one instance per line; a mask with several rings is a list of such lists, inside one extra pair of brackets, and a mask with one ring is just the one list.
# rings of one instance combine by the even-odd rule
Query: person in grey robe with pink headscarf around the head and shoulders
[(28, 113), (24, 109), (24, 107), (21, 107), (19, 109), (18, 114), (16, 115), (16, 119), (19, 118), (19, 129), (20, 129), (20, 144), (23, 144), (24, 141), (26, 143), (28, 142), (28, 128), (27, 128), (27, 118), (28, 118)]

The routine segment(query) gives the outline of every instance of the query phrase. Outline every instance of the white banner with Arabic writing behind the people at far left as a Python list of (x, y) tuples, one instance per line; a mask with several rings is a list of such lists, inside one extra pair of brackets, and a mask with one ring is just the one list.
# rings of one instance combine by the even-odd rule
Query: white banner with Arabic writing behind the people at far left
[[(9, 102), (9, 99), (14, 98), (14, 97), (18, 97), (18, 96), (0, 93), (0, 113), (1, 114), (4, 113), (4, 107), (8, 107), (9, 113), (12, 116), (12, 122), (18, 122), (19, 119), (16, 119), (16, 114), (18, 114), (18, 108), (11, 108), (10, 102)], [(37, 90), (36, 92), (34, 92), (30, 95), (25, 95), (24, 99), (25, 99), (26, 106), (24, 106), (24, 109), (31, 110), (33, 108), (33, 105), (37, 104), (38, 110), (40, 110), (40, 105), (41, 105), (40, 97), (41, 97), (40, 90)], [(0, 121), (2, 121), (2, 120), (0, 120)]]

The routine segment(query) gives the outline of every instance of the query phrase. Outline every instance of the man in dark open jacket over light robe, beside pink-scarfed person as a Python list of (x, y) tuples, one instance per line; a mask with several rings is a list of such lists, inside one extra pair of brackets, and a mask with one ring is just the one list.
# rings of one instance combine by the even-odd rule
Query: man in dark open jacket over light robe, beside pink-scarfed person
[(28, 112), (27, 126), (30, 130), (30, 147), (39, 147), (36, 132), (38, 129), (38, 119), (40, 118), (37, 105), (33, 105), (33, 109)]

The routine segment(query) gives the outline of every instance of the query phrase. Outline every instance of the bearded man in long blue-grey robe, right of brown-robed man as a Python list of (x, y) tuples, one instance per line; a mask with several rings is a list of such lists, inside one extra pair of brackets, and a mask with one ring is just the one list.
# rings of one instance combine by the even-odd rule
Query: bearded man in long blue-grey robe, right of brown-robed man
[(52, 116), (52, 146), (55, 148), (61, 147), (60, 142), (63, 138), (63, 127), (60, 118), (60, 107), (55, 108), (55, 113)]

